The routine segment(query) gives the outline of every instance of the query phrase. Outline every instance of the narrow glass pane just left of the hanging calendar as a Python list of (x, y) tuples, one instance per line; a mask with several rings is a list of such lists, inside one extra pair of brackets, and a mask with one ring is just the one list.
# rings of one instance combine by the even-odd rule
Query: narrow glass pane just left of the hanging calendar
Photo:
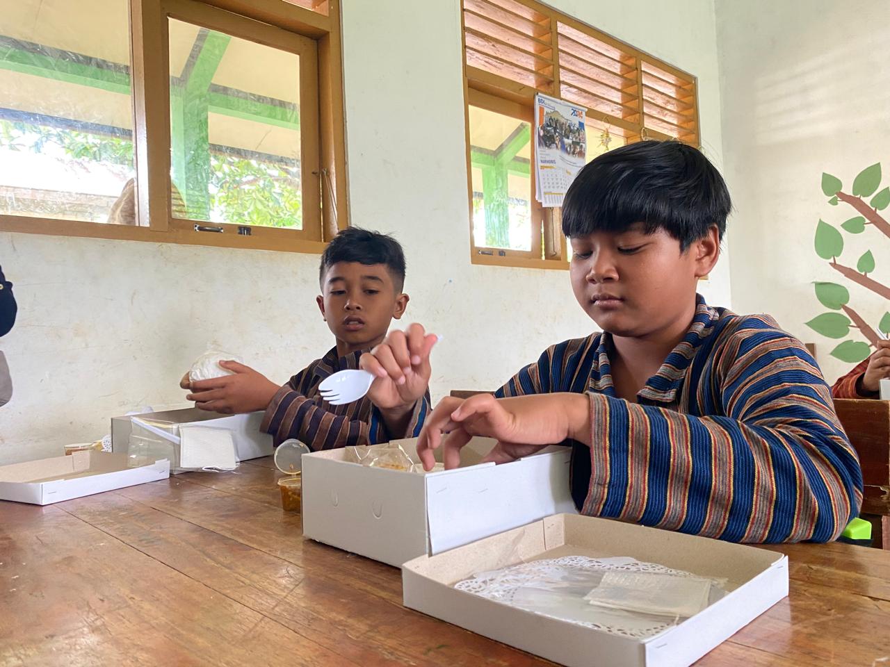
[(531, 124), (470, 107), (473, 241), (531, 250)]

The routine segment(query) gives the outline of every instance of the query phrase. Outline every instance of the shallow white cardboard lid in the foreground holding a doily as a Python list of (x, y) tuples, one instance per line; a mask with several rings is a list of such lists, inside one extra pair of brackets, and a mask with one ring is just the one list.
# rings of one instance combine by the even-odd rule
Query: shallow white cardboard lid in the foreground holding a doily
[[(563, 556), (630, 556), (712, 578), (728, 594), (650, 639), (587, 628), (458, 591), (480, 572)], [(684, 667), (788, 595), (774, 551), (605, 518), (556, 515), (402, 566), (406, 607), (570, 667)]]

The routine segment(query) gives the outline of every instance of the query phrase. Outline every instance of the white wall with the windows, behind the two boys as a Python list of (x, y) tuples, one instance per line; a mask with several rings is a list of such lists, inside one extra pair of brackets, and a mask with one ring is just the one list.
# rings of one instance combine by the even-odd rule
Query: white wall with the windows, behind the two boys
[[(699, 76), (702, 139), (722, 166), (711, 0), (553, 4)], [(458, 0), (344, 0), (352, 223), (405, 246), (405, 321), (444, 335), (434, 398), (493, 389), (593, 329), (568, 272), (469, 263), (459, 27)], [(280, 382), (332, 344), (314, 304), (317, 256), (0, 234), (0, 263), (20, 303), (0, 341), (15, 388), (0, 463), (101, 437), (134, 406), (181, 401), (178, 379), (211, 338)], [(729, 301), (726, 258), (702, 290)]]

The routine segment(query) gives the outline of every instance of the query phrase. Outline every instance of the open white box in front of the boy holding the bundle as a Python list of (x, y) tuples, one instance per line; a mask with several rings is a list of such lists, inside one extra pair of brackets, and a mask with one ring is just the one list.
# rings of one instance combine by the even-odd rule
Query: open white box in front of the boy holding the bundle
[[(258, 459), (261, 456), (271, 456), (275, 448), (272, 446), (272, 437), (268, 433), (260, 431), (260, 423), (263, 422), (263, 413), (247, 414), (218, 414), (198, 410), (197, 407), (187, 407), (181, 410), (166, 410), (163, 412), (130, 414), (124, 417), (111, 418), (111, 451), (126, 454), (129, 445), (130, 433), (133, 431), (134, 417), (151, 422), (174, 422), (179, 426), (209, 426), (214, 429), (231, 431), (231, 437), (235, 441), (235, 454), (239, 461)], [(174, 474), (186, 472), (179, 468), (179, 446), (174, 446), (174, 458), (170, 462), (170, 471)]]

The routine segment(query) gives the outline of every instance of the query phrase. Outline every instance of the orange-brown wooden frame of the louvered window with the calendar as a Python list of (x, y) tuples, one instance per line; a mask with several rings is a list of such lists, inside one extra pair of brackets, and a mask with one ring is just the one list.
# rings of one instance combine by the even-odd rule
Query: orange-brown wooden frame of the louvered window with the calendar
[[(636, 72), (636, 97), (640, 101), (640, 108), (635, 116), (632, 117), (612, 117), (609, 116), (607, 123), (611, 125), (619, 133), (622, 133), (627, 143), (634, 141), (642, 141), (643, 139), (659, 139), (672, 140), (674, 137), (661, 133), (651, 127), (645, 126), (645, 116), (643, 113), (643, 69), (645, 66), (651, 66), (660, 69), (669, 76), (674, 76), (683, 81), (688, 88), (692, 98), (692, 109), (694, 111), (694, 125), (686, 128), (686, 132), (692, 138), (692, 143), (696, 148), (700, 147), (700, 114), (698, 103), (698, 79), (682, 69), (676, 68), (663, 60), (654, 58), (650, 54), (640, 51), (630, 44), (626, 44), (615, 37), (603, 33), (586, 23), (570, 17), (567, 14), (558, 12), (546, 4), (536, 2), (536, 0), (514, 0), (517, 4), (522, 4), (533, 12), (538, 12), (546, 16), (549, 20), (550, 41), (545, 43), (539, 37), (523, 37), (530, 43), (537, 44), (540, 48), (538, 58), (546, 63), (545, 70), (534, 72), (536, 75), (536, 85), (522, 84), (505, 76), (499, 76), (485, 69), (475, 68), (467, 64), (466, 56), (466, 33), (467, 26), (465, 24), (465, 12), (488, 20), (490, 23), (498, 23), (498, 20), (491, 20), (482, 17), (477, 13), (478, 8), (474, 7), (478, 2), (473, 0), (461, 0), (460, 3), (460, 27), (461, 27), (461, 58), (464, 71), (464, 110), (465, 110), (465, 135), (466, 135), (466, 169), (467, 169), (467, 189), (469, 191), (469, 220), (470, 220), (470, 261), (473, 264), (482, 264), (489, 266), (510, 266), (529, 269), (568, 269), (569, 253), (566, 239), (562, 235), (561, 226), (561, 210), (559, 208), (544, 208), (534, 197), (535, 188), (535, 169), (534, 169), (534, 151), (537, 149), (537, 141), (532, 139), (532, 169), (531, 169), (531, 187), (532, 187), (532, 233), (534, 235), (532, 241), (532, 251), (522, 252), (506, 250), (503, 248), (488, 248), (475, 245), (475, 237), (473, 235), (473, 165), (470, 151), (470, 107), (488, 108), (492, 111), (505, 114), (506, 116), (516, 117), (519, 120), (527, 120), (532, 124), (532, 135), (534, 135), (534, 102), (535, 95), (543, 92), (546, 95), (560, 98), (560, 76), (562, 68), (565, 67), (560, 63), (561, 45), (559, 35), (559, 24), (562, 23), (569, 28), (574, 28), (579, 32), (585, 33), (587, 36), (594, 37), (596, 40), (608, 44), (619, 51), (625, 53), (629, 60), (633, 61)], [(467, 7), (467, 4), (473, 4), (473, 8)], [(494, 2), (492, 4), (498, 4)], [(502, 12), (512, 14), (508, 9)], [(515, 15), (519, 20), (529, 21), (524, 17)], [(503, 25), (503, 24), (502, 24)], [(508, 28), (508, 27), (507, 27)], [(495, 43), (506, 44), (503, 40), (490, 37)], [(506, 61), (505, 61), (506, 62)], [(520, 68), (522, 69), (522, 68)], [(570, 70), (570, 68), (566, 68)], [(527, 70), (528, 74), (532, 70)], [(580, 76), (583, 76), (581, 74)], [(657, 76), (657, 75), (651, 75)], [(572, 104), (584, 106), (576, 101)], [(649, 102), (653, 103), (653, 102)], [(654, 103), (653, 103), (654, 104)], [(524, 116), (522, 114), (525, 114)], [(587, 108), (588, 126), (598, 125), (600, 118), (604, 117), (603, 113), (591, 108)], [(686, 140), (679, 140), (686, 141)], [(689, 141), (687, 141), (689, 142)], [(536, 220), (538, 221), (538, 231), (536, 231)], [(540, 253), (541, 247), (536, 244), (538, 237), (543, 237), (543, 253)], [(535, 253), (535, 249), (538, 253)]]

